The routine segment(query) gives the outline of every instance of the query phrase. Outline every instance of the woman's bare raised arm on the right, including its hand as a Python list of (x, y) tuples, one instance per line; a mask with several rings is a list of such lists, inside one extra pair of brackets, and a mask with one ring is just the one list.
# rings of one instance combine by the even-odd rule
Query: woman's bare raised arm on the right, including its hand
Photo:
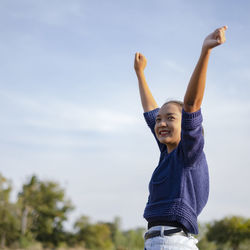
[(186, 112), (195, 112), (198, 111), (201, 107), (205, 90), (207, 65), (210, 53), (214, 47), (221, 45), (226, 41), (226, 30), (227, 26), (216, 29), (204, 40), (200, 58), (191, 76), (184, 97), (184, 110)]

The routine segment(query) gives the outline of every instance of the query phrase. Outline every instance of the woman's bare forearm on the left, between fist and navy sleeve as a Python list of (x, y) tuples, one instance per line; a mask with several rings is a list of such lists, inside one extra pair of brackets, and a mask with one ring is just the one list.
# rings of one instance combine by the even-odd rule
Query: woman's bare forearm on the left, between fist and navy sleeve
[(143, 71), (136, 71), (136, 75), (138, 78), (138, 85), (141, 97), (141, 103), (144, 112), (151, 111), (158, 107), (145, 78)]

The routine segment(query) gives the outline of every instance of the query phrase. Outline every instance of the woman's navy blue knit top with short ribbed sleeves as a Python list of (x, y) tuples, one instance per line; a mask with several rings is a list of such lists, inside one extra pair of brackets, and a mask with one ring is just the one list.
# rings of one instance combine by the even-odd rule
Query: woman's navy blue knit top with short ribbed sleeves
[[(144, 113), (154, 134), (159, 108)], [(201, 110), (187, 113), (182, 110), (181, 141), (168, 154), (161, 144), (160, 161), (149, 183), (149, 197), (144, 210), (148, 222), (177, 221), (190, 233), (198, 234), (197, 216), (207, 203), (209, 175), (202, 135)]]

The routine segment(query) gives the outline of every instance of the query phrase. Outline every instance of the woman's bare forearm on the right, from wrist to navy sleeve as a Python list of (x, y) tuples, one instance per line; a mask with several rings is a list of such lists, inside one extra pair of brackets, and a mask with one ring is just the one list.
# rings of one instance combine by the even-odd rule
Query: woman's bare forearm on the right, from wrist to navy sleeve
[(204, 96), (207, 66), (211, 50), (202, 50), (184, 97), (184, 110), (195, 112), (200, 109)]

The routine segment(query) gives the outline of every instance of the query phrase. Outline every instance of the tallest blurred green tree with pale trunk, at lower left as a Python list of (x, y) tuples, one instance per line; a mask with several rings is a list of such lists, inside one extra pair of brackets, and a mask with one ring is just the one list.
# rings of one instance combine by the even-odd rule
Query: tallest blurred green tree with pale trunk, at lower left
[(48, 247), (58, 246), (65, 240), (63, 222), (73, 207), (57, 183), (32, 176), (19, 193), (19, 203), (22, 235), (31, 232), (37, 241)]

